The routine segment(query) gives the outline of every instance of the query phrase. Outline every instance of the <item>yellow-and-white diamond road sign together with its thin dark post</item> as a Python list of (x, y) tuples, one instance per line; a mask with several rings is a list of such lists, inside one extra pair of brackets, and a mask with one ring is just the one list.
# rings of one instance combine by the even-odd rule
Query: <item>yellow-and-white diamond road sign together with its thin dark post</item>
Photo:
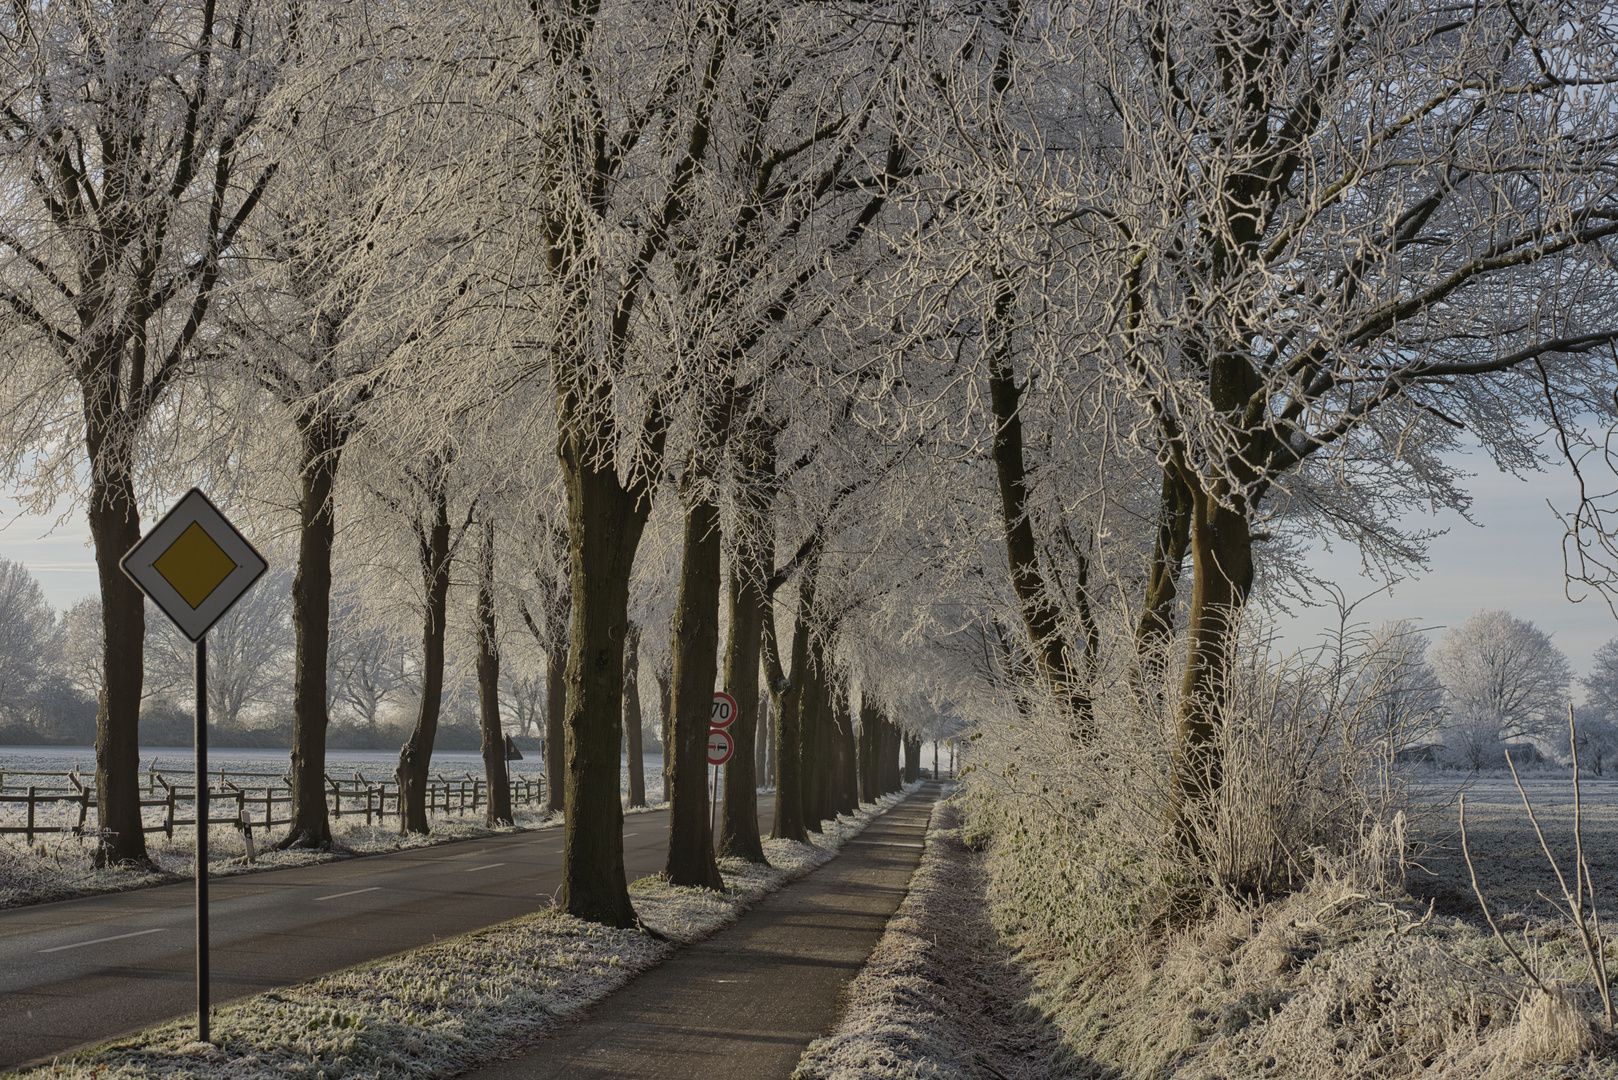
[(193, 487), (120, 563), (196, 643), (197, 1041), (209, 1041), (207, 931), (207, 631), (269, 568), (209, 497)]

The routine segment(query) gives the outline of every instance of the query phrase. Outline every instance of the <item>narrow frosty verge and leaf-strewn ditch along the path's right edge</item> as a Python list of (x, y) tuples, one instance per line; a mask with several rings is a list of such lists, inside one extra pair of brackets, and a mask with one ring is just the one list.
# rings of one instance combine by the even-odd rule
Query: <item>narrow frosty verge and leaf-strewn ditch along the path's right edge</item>
[(793, 1080), (1058, 1080), (1082, 1075), (1060, 1031), (1031, 1017), (1023, 970), (984, 905), (984, 860), (934, 806), (909, 894), (845, 994), (832, 1035)]

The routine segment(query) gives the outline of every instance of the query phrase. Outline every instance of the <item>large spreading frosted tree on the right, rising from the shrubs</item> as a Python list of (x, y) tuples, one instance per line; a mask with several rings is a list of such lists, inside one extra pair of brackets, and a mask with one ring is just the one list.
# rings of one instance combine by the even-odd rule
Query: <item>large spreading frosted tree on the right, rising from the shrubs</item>
[[(1527, 468), (1531, 424), (1612, 411), (1618, 53), (1607, 23), (1514, 0), (1011, 10), (937, 83), (951, 115), (1048, 147), (1016, 159), (1037, 173), (974, 160), (979, 306), (997, 275), (1061, 290), (1058, 355), (1097, 364), (1131, 403), (1112, 431), (1173, 473), (1155, 517), (1188, 529), (1170, 818), (1189, 850), (1254, 544), (1332, 529), (1419, 559), (1387, 523), (1464, 504), (1438, 458), (1458, 432)], [(1002, 40), (1040, 78), (997, 97)]]

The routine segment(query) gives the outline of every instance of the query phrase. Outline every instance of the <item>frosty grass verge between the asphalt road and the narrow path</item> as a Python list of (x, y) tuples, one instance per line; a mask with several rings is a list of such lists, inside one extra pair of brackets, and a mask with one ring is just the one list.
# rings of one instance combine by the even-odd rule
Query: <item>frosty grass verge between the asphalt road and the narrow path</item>
[(544, 910), (464, 938), (259, 994), (214, 1012), (214, 1043), (193, 1022), (150, 1028), (19, 1075), (29, 1080), (285, 1080), (448, 1077), (524, 1046), (654, 967), (678, 944), (723, 926), (820, 866), (892, 795), (828, 823), (812, 844), (765, 840), (770, 866), (723, 860), (725, 892), (644, 878), (629, 889), (641, 920), (670, 941)]

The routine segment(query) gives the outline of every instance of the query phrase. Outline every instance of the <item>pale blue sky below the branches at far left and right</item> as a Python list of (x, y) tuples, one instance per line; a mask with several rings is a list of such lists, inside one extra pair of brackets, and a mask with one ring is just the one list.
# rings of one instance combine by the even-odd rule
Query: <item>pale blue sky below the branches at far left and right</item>
[[(1472, 518), (1442, 515), (1429, 528), (1448, 528), (1432, 542), (1432, 568), (1419, 578), (1401, 581), (1391, 594), (1375, 596), (1356, 610), (1356, 619), (1375, 625), (1385, 619), (1416, 619), (1422, 627), (1463, 622), (1479, 607), (1500, 607), (1527, 619), (1552, 635), (1578, 674), (1590, 665), (1590, 654), (1618, 636), (1618, 620), (1607, 604), (1590, 596), (1574, 604), (1563, 596), (1561, 526), (1545, 500), (1571, 505), (1576, 487), (1565, 466), (1518, 479), (1500, 473), (1487, 457), (1461, 458), (1477, 473), (1468, 481)], [(95, 591), (95, 563), (87, 546), (89, 529), (83, 513), (71, 513), (52, 529), (52, 518), (23, 515), (10, 499), (0, 497), (0, 557), (23, 562), (45, 589), (52, 607), (61, 610)], [(1314, 565), (1336, 581), (1349, 599), (1370, 593), (1377, 583), (1359, 573), (1358, 552), (1338, 546), (1317, 551)], [(1576, 588), (1574, 596), (1582, 591)], [(1311, 644), (1335, 625), (1332, 609), (1299, 609), (1280, 623), (1285, 644)], [(1442, 635), (1435, 630), (1434, 641)]]

